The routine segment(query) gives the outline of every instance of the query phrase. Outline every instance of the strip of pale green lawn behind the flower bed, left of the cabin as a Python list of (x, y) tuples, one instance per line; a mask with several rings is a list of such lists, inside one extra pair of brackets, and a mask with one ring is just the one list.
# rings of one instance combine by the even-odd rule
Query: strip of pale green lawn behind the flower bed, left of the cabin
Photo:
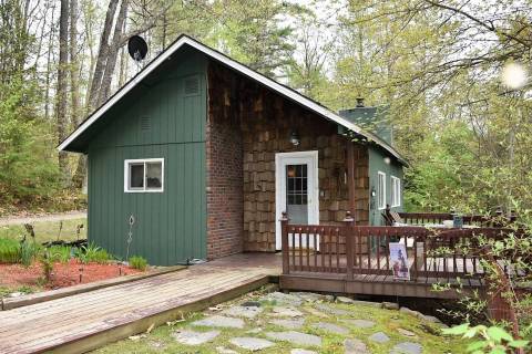
[[(86, 238), (86, 218), (82, 219), (72, 219), (63, 220), (63, 226), (60, 232), (60, 221), (40, 221), (32, 222), (33, 229), (35, 231), (35, 240), (38, 243), (47, 241), (55, 241), (58, 239), (64, 241), (74, 241), (76, 240), (76, 227), (78, 225), (83, 223), (83, 229), (80, 232), (80, 239)], [(23, 235), (27, 235), (25, 228), (23, 225), (9, 225), (0, 226), (0, 238), (16, 238), (19, 239)]]

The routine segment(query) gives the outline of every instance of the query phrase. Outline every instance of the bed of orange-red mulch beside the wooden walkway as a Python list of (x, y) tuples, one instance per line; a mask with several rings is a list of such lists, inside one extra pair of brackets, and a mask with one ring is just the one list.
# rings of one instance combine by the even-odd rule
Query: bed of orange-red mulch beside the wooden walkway
[[(83, 269), (80, 272), (80, 268)], [(122, 272), (121, 272), (122, 270)], [(52, 271), (52, 281), (44, 284), (45, 289), (66, 288), (81, 283), (90, 283), (99, 280), (116, 278), (127, 274), (140, 273), (140, 270), (119, 266), (116, 263), (88, 263), (81, 264), (78, 260), (72, 259), (68, 263), (55, 263)], [(17, 288), (22, 285), (37, 285), (39, 279), (43, 279), (42, 267), (35, 262), (32, 266), (24, 268), (21, 264), (0, 264), (0, 285), (8, 288)]]

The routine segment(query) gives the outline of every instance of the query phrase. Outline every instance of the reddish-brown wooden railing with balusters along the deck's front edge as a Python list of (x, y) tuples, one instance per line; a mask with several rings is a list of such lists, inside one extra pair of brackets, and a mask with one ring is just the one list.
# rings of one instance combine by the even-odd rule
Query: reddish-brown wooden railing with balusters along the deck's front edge
[[(482, 278), (479, 238), (500, 239), (502, 228), (430, 229), (424, 227), (290, 225), (282, 220), (283, 272), (332, 277), (392, 275), (390, 242), (406, 244), (410, 278)], [(505, 272), (511, 270), (504, 269)]]

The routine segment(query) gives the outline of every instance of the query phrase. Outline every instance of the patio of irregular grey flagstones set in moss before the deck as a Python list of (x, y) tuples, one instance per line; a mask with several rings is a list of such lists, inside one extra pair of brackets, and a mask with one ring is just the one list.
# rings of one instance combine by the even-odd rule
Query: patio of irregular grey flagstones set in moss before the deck
[[(315, 354), (320, 353), (330, 341), (337, 343), (336, 347), (340, 345), (344, 354), (371, 354), (376, 348), (379, 353), (422, 354), (423, 346), (418, 343), (416, 331), (423, 325), (439, 323), (436, 317), (401, 308), (400, 313), (423, 319), (427, 323), (417, 327), (405, 323), (401, 324), (405, 327), (397, 324), (388, 327), (382, 320), (370, 315), (365, 319), (364, 313), (380, 311), (368, 309), (387, 309), (390, 311), (389, 320), (398, 321), (399, 306), (396, 304), (349, 298), (332, 300), (331, 296), (314, 293), (273, 292), (258, 301), (213, 308), (218, 312), (192, 322), (190, 327), (176, 331), (172, 336), (190, 346), (214, 341), (219, 354), (242, 351), (288, 353), (287, 350), (290, 354)], [(224, 331), (239, 330), (235, 332), (238, 334), (228, 334), (223, 342), (219, 340)]]

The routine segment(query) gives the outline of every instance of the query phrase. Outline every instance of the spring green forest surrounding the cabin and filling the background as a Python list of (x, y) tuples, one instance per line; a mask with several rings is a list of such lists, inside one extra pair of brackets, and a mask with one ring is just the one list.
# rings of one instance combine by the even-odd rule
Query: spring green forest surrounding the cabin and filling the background
[(145, 66), (181, 33), (334, 111), (389, 107), (408, 210), (528, 211), (531, 86), (501, 75), (530, 70), (531, 20), (516, 0), (0, 0), (0, 215), (84, 207), (84, 157), (57, 145), (142, 69), (131, 35)]

